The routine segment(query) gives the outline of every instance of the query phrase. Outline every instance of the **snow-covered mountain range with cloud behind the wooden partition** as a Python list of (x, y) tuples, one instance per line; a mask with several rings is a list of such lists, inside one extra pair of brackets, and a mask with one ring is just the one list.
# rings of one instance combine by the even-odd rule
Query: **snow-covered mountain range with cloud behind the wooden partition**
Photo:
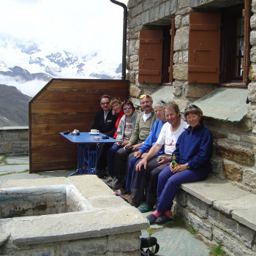
[[(49, 50), (37, 42), (23, 42), (3, 34), (0, 34), (0, 56), (0, 83), (16, 86), (30, 96), (50, 78), (121, 79), (121, 60), (113, 61), (100, 53), (80, 56), (65, 49)], [(33, 92), (29, 94), (29, 86), (35, 84), (32, 81), (41, 82), (41, 88), (31, 89)]]

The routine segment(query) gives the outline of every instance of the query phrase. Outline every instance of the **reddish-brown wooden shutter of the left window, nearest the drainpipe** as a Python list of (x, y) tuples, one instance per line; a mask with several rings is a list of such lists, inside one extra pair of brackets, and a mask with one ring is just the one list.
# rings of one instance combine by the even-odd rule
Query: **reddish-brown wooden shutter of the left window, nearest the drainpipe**
[(139, 83), (161, 83), (162, 30), (140, 31)]

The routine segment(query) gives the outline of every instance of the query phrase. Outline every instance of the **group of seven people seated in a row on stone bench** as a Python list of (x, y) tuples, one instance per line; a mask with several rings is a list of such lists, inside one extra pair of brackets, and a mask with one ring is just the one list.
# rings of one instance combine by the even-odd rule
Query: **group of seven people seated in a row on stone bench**
[(97, 176), (107, 177), (105, 182), (141, 212), (157, 203), (147, 217), (150, 224), (167, 222), (180, 184), (203, 180), (211, 170), (213, 141), (202, 110), (187, 105), (186, 122), (175, 102), (153, 103), (148, 94), (140, 96), (140, 113), (129, 99), (103, 95), (100, 105), (92, 128), (117, 142), (99, 145)]

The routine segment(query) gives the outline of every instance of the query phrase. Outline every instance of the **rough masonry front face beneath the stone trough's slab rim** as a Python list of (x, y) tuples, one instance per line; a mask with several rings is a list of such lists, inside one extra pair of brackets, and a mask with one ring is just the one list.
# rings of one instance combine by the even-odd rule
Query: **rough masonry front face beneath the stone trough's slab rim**
[(140, 232), (76, 239), (59, 243), (28, 244), (3, 250), (4, 255), (105, 255), (139, 256)]

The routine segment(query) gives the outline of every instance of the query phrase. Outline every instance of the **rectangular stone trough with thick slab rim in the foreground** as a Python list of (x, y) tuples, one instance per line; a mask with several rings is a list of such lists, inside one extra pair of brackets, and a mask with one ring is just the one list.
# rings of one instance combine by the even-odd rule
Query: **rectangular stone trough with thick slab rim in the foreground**
[(141, 230), (149, 227), (148, 220), (97, 176), (0, 181), (0, 187), (1, 199), (18, 197), (16, 206), (20, 191), (31, 204), (44, 204), (61, 192), (67, 195), (67, 208), (75, 206), (60, 214), (0, 219), (0, 255), (140, 255)]

